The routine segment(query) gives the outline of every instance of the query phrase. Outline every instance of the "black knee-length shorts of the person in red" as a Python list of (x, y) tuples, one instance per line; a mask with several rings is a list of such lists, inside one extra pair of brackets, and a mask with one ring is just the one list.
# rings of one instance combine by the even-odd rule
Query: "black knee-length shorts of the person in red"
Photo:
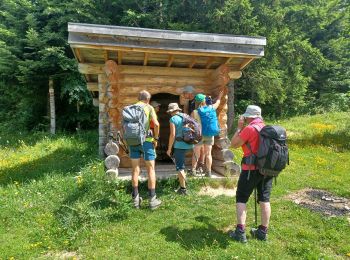
[(269, 202), (273, 177), (263, 176), (259, 170), (251, 170), (248, 180), (247, 170), (242, 170), (237, 185), (236, 202), (247, 203), (250, 195), (256, 187), (258, 202)]

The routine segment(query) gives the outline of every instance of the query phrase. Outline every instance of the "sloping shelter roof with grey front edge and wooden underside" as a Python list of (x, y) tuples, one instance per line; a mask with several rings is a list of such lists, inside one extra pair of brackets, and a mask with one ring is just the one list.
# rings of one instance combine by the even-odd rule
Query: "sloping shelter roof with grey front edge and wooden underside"
[[(79, 63), (241, 71), (264, 56), (265, 37), (183, 32), (110, 25), (68, 24), (68, 43)], [(88, 81), (94, 81), (91, 75)]]

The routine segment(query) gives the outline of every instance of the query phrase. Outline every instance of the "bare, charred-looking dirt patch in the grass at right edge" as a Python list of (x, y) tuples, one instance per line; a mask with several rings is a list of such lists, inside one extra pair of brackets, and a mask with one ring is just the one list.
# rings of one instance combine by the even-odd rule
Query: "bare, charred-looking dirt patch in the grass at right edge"
[(324, 190), (303, 189), (287, 196), (295, 204), (322, 215), (334, 217), (350, 215), (350, 200)]

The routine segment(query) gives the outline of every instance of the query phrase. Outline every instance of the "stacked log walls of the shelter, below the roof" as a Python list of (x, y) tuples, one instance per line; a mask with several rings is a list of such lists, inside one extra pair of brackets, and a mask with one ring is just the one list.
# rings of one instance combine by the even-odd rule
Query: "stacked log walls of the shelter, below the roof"
[[(213, 149), (213, 170), (224, 174), (224, 162), (222, 150), (227, 148), (227, 83), (232, 77), (240, 76), (240, 72), (230, 72), (227, 65), (222, 65), (216, 70), (209, 69), (177, 69), (147, 66), (119, 66), (113, 60), (105, 63), (103, 72), (92, 65), (81, 65), (83, 69), (98, 70), (99, 91), (99, 152), (104, 156), (104, 147), (109, 136), (117, 136), (121, 132), (121, 113), (126, 105), (138, 100), (138, 93), (147, 90), (152, 95), (169, 93), (179, 96), (180, 103), (182, 88), (186, 85), (195, 87), (197, 93), (211, 95), (213, 99), (220, 91), (224, 91), (221, 104), (217, 110), (220, 135), (215, 138)], [(167, 106), (167, 104), (164, 104)], [(167, 120), (165, 123), (168, 124)], [(164, 124), (165, 124), (164, 123)], [(166, 140), (167, 141), (167, 140)], [(166, 143), (167, 145), (167, 143)], [(120, 167), (131, 167), (131, 162), (123, 149), (119, 150)], [(188, 156), (190, 160), (190, 155)]]

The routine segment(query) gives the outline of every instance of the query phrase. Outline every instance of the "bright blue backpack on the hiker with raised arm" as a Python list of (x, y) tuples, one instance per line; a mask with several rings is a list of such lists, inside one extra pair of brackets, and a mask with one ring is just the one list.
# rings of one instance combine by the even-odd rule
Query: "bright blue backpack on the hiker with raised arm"
[(198, 114), (202, 123), (203, 136), (217, 136), (220, 133), (219, 121), (216, 110), (212, 106), (198, 108)]

